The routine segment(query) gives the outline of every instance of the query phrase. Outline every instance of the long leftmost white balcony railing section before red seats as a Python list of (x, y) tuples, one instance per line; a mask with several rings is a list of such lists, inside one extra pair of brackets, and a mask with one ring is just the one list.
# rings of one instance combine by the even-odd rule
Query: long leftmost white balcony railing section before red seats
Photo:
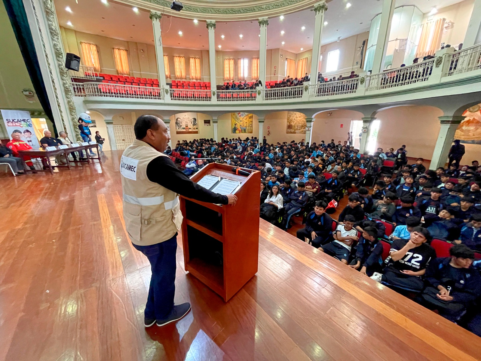
[(161, 88), (109, 83), (72, 83), (74, 95), (111, 98), (164, 99)]

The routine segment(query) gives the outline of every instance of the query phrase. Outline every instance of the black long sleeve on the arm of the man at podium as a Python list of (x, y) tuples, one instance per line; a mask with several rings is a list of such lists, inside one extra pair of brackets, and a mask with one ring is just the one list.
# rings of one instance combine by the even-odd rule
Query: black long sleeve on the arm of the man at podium
[(172, 192), (201, 202), (228, 204), (227, 195), (214, 193), (190, 180), (169, 157), (158, 156), (147, 165), (147, 178)]

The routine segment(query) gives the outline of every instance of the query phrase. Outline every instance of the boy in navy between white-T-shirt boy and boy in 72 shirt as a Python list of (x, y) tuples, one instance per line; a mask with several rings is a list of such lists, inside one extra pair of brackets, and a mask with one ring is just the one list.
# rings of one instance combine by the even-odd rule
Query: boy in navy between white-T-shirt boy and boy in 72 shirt
[(379, 272), (382, 264), (382, 248), (382, 244), (378, 240), (377, 228), (364, 228), (362, 237), (356, 246), (356, 258), (351, 262), (350, 267), (369, 277), (374, 272)]

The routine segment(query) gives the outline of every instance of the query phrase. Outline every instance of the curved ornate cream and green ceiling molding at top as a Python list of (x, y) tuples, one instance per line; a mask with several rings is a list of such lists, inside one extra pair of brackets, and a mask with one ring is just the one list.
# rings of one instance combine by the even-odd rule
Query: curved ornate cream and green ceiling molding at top
[(294, 13), (312, 7), (319, 0), (184, 0), (182, 1), (184, 9), (180, 13), (170, 9), (172, 3), (170, 0), (119, 0), (119, 2), (187, 19), (240, 21)]

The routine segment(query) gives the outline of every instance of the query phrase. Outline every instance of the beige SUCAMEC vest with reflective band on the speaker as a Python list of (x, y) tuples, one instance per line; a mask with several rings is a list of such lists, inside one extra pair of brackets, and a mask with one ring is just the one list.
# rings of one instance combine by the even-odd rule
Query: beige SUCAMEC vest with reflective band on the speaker
[(120, 160), (125, 227), (136, 245), (164, 242), (182, 224), (178, 194), (147, 178), (147, 165), (159, 155), (168, 156), (136, 139)]

